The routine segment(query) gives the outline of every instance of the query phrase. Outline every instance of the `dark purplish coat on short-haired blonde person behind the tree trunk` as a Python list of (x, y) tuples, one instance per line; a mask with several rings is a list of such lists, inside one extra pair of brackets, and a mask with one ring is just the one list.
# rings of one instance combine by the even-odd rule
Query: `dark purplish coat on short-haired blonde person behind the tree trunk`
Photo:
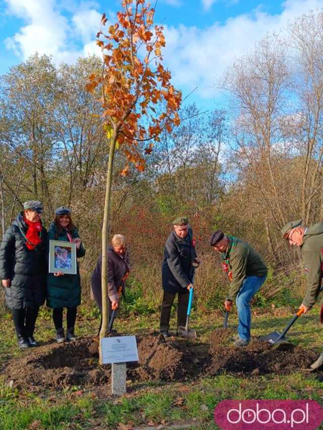
[[(118, 299), (118, 289), (122, 286), (122, 292), (125, 293), (125, 282), (122, 278), (126, 272), (129, 272), (129, 254), (125, 257), (116, 254), (113, 247), (109, 247), (107, 251), (107, 293), (110, 302)], [(102, 291), (101, 291), (101, 273), (102, 273), (102, 256), (100, 255), (96, 267), (91, 277), (91, 288), (93, 298), (102, 311)]]

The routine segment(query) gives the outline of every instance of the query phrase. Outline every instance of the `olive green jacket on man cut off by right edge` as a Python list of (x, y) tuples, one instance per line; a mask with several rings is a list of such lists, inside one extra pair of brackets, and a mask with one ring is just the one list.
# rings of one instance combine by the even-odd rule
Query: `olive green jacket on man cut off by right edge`
[(301, 254), (306, 273), (306, 294), (303, 303), (311, 308), (318, 296), (322, 279), (323, 222), (306, 229)]

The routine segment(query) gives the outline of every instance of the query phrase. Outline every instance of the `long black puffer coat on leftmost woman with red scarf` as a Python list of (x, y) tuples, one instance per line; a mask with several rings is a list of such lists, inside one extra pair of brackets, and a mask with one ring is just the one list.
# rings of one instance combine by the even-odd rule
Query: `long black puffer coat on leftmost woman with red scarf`
[(5, 288), (6, 304), (10, 309), (40, 306), (45, 300), (46, 229), (41, 230), (41, 242), (34, 251), (26, 247), (27, 225), (20, 213), (5, 233), (0, 247), (0, 278), (11, 279)]

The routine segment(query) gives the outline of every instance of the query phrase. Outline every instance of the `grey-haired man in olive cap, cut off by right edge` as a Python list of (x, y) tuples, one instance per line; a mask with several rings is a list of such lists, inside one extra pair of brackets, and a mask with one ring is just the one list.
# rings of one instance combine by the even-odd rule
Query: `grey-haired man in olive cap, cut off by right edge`
[[(290, 221), (282, 228), (284, 239), (288, 240), (290, 245), (299, 247), (306, 273), (306, 293), (302, 304), (299, 306), (304, 314), (311, 309), (319, 294), (322, 269), (323, 269), (323, 223), (319, 222), (311, 227), (302, 225), (303, 220)], [(321, 311), (320, 322), (323, 322)], [(317, 368), (323, 363), (323, 353), (311, 365)]]

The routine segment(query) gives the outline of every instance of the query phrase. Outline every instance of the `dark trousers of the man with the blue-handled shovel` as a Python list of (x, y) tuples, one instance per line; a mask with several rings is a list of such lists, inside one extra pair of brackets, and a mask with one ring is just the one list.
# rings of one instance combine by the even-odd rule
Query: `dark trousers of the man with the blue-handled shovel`
[[(170, 328), (171, 309), (174, 302), (176, 293), (171, 293), (164, 290), (163, 302), (161, 303), (161, 315), (160, 315), (160, 330), (166, 331)], [(178, 293), (178, 305), (177, 305), (177, 326), (185, 326), (187, 305), (189, 299), (189, 291), (186, 290), (183, 293)]]

